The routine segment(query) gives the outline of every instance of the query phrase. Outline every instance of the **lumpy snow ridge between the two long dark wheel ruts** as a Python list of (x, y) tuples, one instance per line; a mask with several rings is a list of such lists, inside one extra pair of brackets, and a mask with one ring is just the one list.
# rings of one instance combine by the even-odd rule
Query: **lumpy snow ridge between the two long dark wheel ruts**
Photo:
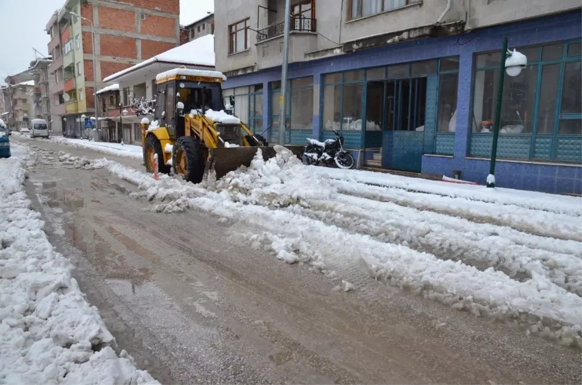
[[(371, 235), (381, 242), (431, 253), (439, 259), (460, 260), (479, 270), (493, 267), (513, 279), (531, 279), (533, 273), (545, 275), (559, 287), (582, 295), (580, 258), (528, 248), (499, 235), (480, 234), (470, 229), (451, 230), (438, 222), (417, 218), (413, 209), (409, 209), (407, 216), (397, 213), (386, 216), (386, 211), (378, 207), (377, 202), (346, 198), (347, 204), (312, 201), (308, 209), (294, 206), (291, 210), (350, 232)], [(380, 213), (384, 216), (381, 219), (378, 218)], [(410, 217), (414, 220), (409, 220)]]

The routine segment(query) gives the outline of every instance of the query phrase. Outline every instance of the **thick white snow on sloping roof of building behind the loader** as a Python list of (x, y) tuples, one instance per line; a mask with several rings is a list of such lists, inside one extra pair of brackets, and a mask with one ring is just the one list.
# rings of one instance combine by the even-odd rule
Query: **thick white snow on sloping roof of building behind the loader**
[(172, 48), (153, 58), (137, 63), (133, 67), (120, 70), (111, 76), (105, 77), (103, 82), (107, 83), (119, 76), (132, 72), (136, 69), (143, 68), (155, 62), (176, 63), (183, 65), (199, 65), (214, 67), (214, 35), (199, 37), (189, 43)]

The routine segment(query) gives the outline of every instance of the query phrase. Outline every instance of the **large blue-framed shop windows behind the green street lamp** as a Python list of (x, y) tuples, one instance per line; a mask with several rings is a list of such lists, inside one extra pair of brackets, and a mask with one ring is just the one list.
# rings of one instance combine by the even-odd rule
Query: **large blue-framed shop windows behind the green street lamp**
[[(505, 77), (498, 157), (582, 162), (582, 42), (518, 51), (528, 59)], [(469, 156), (490, 157), (501, 51), (475, 55)]]

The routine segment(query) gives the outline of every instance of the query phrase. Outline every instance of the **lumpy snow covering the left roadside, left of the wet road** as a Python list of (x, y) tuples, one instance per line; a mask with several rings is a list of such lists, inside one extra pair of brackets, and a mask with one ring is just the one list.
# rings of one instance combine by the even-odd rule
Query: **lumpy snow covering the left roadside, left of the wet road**
[(72, 278), (24, 190), (30, 147), (0, 159), (0, 382), (159, 385), (122, 351)]

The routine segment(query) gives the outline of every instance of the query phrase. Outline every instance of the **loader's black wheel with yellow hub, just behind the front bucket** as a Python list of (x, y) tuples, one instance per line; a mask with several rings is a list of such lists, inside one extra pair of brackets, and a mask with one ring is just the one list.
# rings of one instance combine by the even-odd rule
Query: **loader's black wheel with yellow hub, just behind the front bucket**
[(192, 136), (182, 136), (174, 144), (172, 164), (174, 174), (184, 175), (186, 181), (202, 182), (204, 176), (204, 147)]

